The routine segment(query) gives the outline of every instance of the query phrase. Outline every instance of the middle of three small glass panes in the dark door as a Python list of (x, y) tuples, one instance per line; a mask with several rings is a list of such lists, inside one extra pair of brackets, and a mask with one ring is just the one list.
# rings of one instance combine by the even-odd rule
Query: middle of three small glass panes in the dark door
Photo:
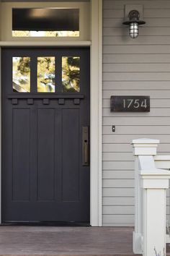
[(55, 92), (55, 57), (37, 57), (37, 92)]

